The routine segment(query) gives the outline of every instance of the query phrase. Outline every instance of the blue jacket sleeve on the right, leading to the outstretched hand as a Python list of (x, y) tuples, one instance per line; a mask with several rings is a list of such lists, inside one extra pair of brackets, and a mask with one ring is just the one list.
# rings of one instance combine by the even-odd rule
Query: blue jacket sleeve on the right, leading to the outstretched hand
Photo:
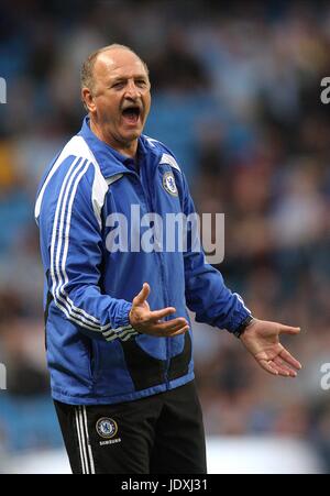
[[(184, 175), (183, 208), (186, 216), (195, 213)], [(188, 232), (187, 238), (187, 251), (184, 253), (187, 306), (196, 312), (197, 322), (234, 332), (251, 312), (241, 296), (224, 285), (221, 273), (207, 263), (202, 247), (200, 251), (193, 251), (191, 233)]]

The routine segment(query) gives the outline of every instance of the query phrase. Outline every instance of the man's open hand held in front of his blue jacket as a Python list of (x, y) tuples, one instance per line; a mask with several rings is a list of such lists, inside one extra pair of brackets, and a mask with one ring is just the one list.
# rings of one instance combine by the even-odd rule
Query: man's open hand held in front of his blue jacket
[(130, 323), (132, 328), (144, 334), (156, 337), (173, 337), (184, 334), (188, 331), (187, 319), (178, 317), (173, 320), (162, 321), (164, 317), (176, 312), (174, 307), (163, 308), (162, 310), (151, 311), (146, 301), (150, 295), (150, 285), (143, 284), (139, 295), (133, 299), (133, 306), (130, 311)]

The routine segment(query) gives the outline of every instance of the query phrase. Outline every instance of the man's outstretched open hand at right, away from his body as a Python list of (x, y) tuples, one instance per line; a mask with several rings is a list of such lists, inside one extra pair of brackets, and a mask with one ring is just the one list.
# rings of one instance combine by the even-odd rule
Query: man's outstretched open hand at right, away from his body
[(280, 334), (296, 335), (300, 328), (253, 319), (240, 339), (262, 368), (273, 375), (296, 377), (301, 364), (280, 344)]

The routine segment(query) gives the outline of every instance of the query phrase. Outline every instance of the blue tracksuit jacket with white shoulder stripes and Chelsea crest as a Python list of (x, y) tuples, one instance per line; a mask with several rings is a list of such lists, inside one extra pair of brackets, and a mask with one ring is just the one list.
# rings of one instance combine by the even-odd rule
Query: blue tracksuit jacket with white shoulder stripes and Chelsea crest
[[(189, 321), (188, 307), (198, 321), (234, 331), (250, 315), (189, 244), (185, 253), (136, 250), (132, 206), (141, 218), (194, 212), (168, 148), (142, 135), (138, 150), (139, 173), (131, 158), (98, 140), (86, 118), (38, 188), (47, 362), (53, 397), (66, 404), (129, 401), (194, 378), (191, 331), (155, 338), (130, 326), (131, 301), (144, 282), (151, 309), (173, 306), (173, 318)], [(127, 219), (127, 251), (111, 250), (119, 239), (113, 235), (119, 224), (109, 221), (113, 214)]]

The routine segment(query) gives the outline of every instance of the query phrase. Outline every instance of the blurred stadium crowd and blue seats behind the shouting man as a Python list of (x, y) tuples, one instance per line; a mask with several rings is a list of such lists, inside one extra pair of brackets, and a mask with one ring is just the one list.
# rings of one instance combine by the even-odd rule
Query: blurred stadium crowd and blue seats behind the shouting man
[(330, 390), (320, 386), (330, 362), (330, 106), (320, 102), (330, 5), (283, 0), (1, 1), (0, 472), (67, 470), (33, 206), (45, 165), (80, 128), (81, 60), (112, 42), (150, 66), (147, 134), (176, 153), (199, 212), (226, 213), (228, 285), (255, 316), (302, 328), (285, 343), (304, 370), (286, 381), (227, 332), (196, 326), (210, 472), (330, 472)]

